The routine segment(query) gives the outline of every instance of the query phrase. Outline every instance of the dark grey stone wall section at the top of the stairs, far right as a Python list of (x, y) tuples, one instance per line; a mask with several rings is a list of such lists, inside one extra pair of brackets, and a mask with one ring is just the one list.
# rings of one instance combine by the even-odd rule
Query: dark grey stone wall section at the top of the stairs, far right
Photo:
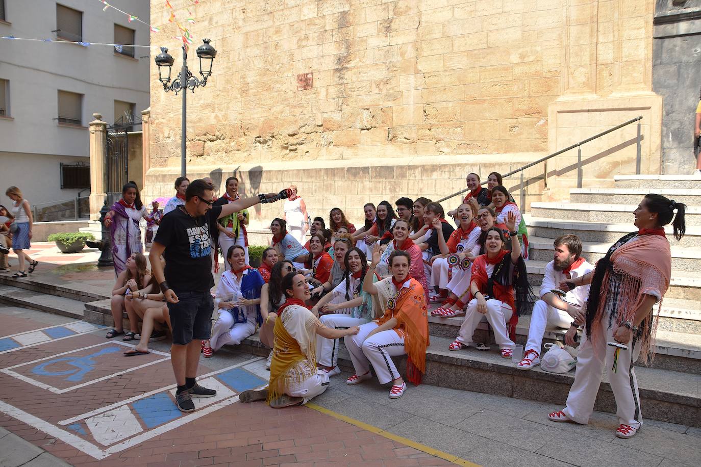
[(690, 174), (701, 90), (701, 0), (657, 0), (653, 89), (665, 98), (662, 173)]

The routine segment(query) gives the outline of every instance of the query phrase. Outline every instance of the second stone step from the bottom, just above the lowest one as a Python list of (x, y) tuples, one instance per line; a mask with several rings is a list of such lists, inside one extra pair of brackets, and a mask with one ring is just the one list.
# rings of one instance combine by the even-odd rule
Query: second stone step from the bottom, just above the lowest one
[[(429, 316), (428, 326), (430, 335), (432, 338), (433, 336), (440, 336), (455, 339), (458, 335), (458, 328), (460, 328), (463, 323), (463, 319), (464, 316), (456, 316), (455, 318)], [(516, 326), (517, 344), (526, 344), (530, 324), (531, 316), (519, 316), (519, 323)], [(562, 329), (548, 329), (545, 332), (543, 344), (545, 344), (545, 342), (562, 343), (564, 342), (564, 335), (565, 331)], [(701, 335), (658, 330), (655, 337), (655, 358), (653, 359), (652, 368), (701, 375)], [(487, 326), (486, 322), (479, 323), (473, 338), (475, 342), (488, 342), (489, 344), (496, 345), (494, 342), (494, 333), (489, 332), (489, 326)], [(636, 365), (643, 365), (643, 363), (638, 362)]]

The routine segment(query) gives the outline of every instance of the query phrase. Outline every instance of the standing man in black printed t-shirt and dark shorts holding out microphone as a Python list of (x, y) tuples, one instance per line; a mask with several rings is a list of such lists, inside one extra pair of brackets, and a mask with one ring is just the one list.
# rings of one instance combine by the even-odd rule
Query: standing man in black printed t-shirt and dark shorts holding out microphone
[[(200, 341), (210, 338), (214, 302), (210, 289), (212, 277), (212, 239), (210, 225), (259, 202), (287, 197), (287, 192), (242, 198), (226, 206), (212, 206), (212, 185), (195, 180), (187, 187), (185, 204), (163, 216), (149, 260), (154, 277), (168, 302), (173, 344), (170, 359), (175, 372), (175, 400), (179, 410), (192, 412), (193, 397), (216, 396), (217, 391), (196, 384), (200, 360)], [(161, 265), (165, 258), (165, 272)]]

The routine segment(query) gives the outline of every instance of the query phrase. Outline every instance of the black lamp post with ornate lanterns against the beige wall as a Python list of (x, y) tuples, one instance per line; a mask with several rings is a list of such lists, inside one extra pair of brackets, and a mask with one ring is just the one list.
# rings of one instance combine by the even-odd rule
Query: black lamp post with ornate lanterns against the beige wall
[[(217, 56), (217, 50), (210, 46), (209, 39), (203, 39), (203, 44), (199, 46), (196, 50), (197, 56), (200, 58), (200, 75), (202, 79), (198, 79), (192, 76), (190, 70), (187, 68), (187, 49), (182, 46), (182, 69), (177, 78), (175, 78), (172, 83), (170, 82), (170, 71), (173, 66), (172, 55), (168, 53), (168, 48), (161, 47), (161, 53), (156, 55), (156, 65), (158, 65), (158, 81), (163, 83), (163, 90), (165, 92), (174, 91), (175, 95), (178, 92), (182, 93), (182, 124), (181, 124), (181, 135), (180, 135), (180, 175), (186, 176), (187, 172), (187, 160), (185, 157), (186, 145), (185, 145), (185, 135), (187, 134), (187, 90), (190, 89), (195, 92), (195, 88), (200, 86), (204, 87), (207, 85), (207, 78), (212, 74), (212, 62)], [(167, 70), (167, 74), (166, 74)], [(169, 84), (170, 83), (170, 84)]]

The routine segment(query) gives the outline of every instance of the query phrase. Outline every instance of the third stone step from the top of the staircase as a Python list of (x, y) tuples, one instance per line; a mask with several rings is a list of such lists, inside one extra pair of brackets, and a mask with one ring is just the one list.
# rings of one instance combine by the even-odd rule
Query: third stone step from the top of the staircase
[[(576, 202), (534, 202), (531, 215), (534, 217), (558, 218), (566, 221), (611, 222), (634, 221), (633, 211), (637, 204), (597, 204)], [(686, 225), (701, 225), (701, 207), (689, 207), (684, 216)]]

